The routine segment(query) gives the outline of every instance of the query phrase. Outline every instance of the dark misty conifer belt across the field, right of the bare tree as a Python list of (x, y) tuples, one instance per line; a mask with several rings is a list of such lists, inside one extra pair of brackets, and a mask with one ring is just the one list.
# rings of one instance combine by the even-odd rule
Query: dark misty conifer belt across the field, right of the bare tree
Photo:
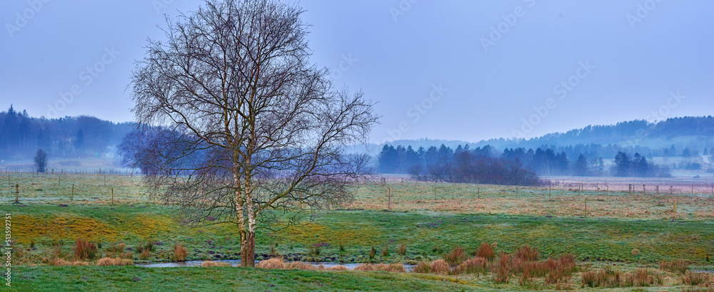
[(615, 163), (605, 168), (602, 157), (588, 160), (580, 154), (574, 161), (565, 152), (555, 152), (550, 148), (506, 149), (501, 155), (494, 155), (493, 147), (459, 145), (456, 150), (441, 147), (411, 146), (393, 147), (384, 145), (378, 157), (379, 171), (382, 173), (411, 174), (416, 179), (443, 182), (471, 182), (500, 180), (508, 183), (538, 181), (540, 175), (603, 176), (610, 172), (617, 177), (670, 177), (668, 167), (654, 165), (646, 157), (635, 153), (630, 157), (618, 152)]

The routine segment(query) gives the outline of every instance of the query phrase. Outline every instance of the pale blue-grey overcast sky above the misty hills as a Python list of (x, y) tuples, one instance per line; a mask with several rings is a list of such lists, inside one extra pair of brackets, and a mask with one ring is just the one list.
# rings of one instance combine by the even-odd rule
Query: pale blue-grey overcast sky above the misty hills
[[(0, 2), (0, 105), (133, 120), (163, 14), (198, 0)], [(714, 1), (303, 0), (313, 63), (383, 115), (371, 140), (534, 137), (711, 115)]]

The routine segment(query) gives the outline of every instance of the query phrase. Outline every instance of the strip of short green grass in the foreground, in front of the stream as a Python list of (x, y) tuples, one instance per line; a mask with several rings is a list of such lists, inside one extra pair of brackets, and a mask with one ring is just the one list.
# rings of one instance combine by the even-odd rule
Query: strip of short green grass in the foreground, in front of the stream
[(17, 291), (483, 291), (488, 286), (448, 276), (258, 268), (16, 268)]

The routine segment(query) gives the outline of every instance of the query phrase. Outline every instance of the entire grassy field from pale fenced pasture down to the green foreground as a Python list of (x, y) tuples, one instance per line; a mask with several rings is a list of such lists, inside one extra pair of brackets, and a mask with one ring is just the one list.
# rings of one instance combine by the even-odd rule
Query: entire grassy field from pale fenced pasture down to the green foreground
[[(543, 278), (523, 286), (517, 277), (496, 284), (491, 275), (49, 266), (53, 259), (71, 259), (79, 238), (98, 243), (98, 257), (111, 254), (109, 247), (121, 242), (124, 256), (136, 263), (171, 261), (176, 244), (186, 246), (189, 260), (239, 259), (239, 245), (233, 226), (189, 229), (176, 224), (170, 207), (146, 198), (140, 177), (108, 175), (106, 186), (104, 176), (96, 174), (68, 174), (61, 181), (58, 175), (11, 174), (9, 184), (7, 179), (0, 177), (0, 211), (13, 218), (13, 261), (19, 265), (14, 285), (27, 290), (528, 290), (580, 288), (583, 273), (603, 266), (660, 273), (661, 261), (680, 259), (693, 269), (714, 269), (714, 200), (709, 196), (568, 190), (549, 196), (548, 189), (401, 182), (363, 185), (353, 204), (316, 213), (320, 216), (311, 224), (276, 232), (261, 229), (258, 259), (279, 254), (290, 261), (417, 264), (441, 259), (455, 246), (471, 253), (488, 242), (496, 253), (528, 244), (540, 251), (540, 259), (572, 253), (580, 268), (556, 287)], [(21, 204), (11, 204), (14, 184), (20, 186)], [(147, 242), (154, 249), (140, 254)], [(315, 245), (322, 246), (319, 254)], [(397, 252), (400, 245), (406, 247), (403, 255)], [(371, 257), (371, 249), (379, 252)], [(679, 275), (661, 273), (665, 281), (651, 288), (689, 287)]]

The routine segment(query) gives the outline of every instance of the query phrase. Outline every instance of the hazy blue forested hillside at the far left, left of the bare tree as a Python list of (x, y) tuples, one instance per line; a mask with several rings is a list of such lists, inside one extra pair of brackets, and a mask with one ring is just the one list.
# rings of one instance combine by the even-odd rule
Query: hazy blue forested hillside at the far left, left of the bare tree
[(13, 108), (0, 112), (0, 159), (29, 160), (38, 149), (50, 157), (96, 157), (130, 132), (131, 122), (79, 116), (48, 120)]

